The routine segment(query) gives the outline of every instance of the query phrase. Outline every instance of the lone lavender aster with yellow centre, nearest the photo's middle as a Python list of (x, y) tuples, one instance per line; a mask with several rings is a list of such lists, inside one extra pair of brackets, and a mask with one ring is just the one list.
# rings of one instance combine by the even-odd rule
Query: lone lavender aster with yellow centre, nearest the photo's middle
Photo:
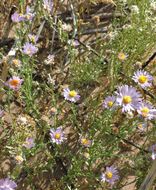
[(63, 96), (65, 100), (69, 100), (70, 102), (77, 102), (80, 99), (80, 95), (75, 90), (70, 90), (69, 88), (64, 89)]

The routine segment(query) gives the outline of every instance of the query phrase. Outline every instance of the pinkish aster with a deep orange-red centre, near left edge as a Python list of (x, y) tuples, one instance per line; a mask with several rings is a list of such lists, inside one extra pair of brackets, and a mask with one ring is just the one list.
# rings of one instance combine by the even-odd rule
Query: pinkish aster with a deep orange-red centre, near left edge
[(13, 76), (12, 78), (10, 78), (6, 85), (11, 88), (12, 90), (19, 90), (21, 87), (21, 84), (23, 82), (23, 79), (20, 79), (19, 77)]

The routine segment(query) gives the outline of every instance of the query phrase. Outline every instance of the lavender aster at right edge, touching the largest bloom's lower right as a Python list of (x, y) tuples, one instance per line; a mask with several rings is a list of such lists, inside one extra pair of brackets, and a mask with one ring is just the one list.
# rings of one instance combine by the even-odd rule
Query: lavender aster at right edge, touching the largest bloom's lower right
[(145, 119), (151, 120), (156, 117), (156, 109), (149, 103), (142, 102), (137, 112)]

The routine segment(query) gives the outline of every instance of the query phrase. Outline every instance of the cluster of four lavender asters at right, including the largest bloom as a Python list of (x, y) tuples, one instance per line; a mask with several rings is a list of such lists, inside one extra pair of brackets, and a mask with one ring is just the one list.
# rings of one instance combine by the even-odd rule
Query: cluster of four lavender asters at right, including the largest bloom
[[(138, 83), (141, 88), (152, 86), (153, 77), (146, 71), (137, 71), (132, 79)], [(144, 119), (151, 120), (156, 117), (156, 108), (149, 102), (143, 100), (141, 93), (132, 86), (122, 85), (115, 92), (116, 96), (105, 98), (103, 107), (112, 109), (121, 107), (122, 112), (130, 113), (137, 111), (138, 115)]]

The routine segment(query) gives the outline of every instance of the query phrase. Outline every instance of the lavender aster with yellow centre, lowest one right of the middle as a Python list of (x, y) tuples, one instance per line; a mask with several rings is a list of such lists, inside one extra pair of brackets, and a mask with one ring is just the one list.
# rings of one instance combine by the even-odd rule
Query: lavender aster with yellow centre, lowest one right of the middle
[(102, 182), (108, 182), (113, 185), (119, 179), (119, 174), (114, 166), (106, 167), (106, 171), (101, 175)]

